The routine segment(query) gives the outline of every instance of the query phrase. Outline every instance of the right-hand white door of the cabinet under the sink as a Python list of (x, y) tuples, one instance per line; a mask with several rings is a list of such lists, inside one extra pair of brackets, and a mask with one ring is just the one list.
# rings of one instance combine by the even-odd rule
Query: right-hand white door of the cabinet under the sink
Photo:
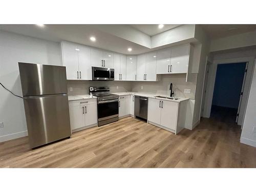
[(161, 101), (161, 125), (176, 130), (178, 103), (173, 101)]

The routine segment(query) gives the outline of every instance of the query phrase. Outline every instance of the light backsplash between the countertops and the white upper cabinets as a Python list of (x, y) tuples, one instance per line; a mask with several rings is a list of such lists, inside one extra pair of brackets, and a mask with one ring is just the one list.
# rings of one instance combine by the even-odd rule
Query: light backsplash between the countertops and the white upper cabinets
[[(115, 92), (146, 92), (159, 95), (170, 94), (170, 83), (173, 83), (174, 96), (195, 99), (197, 74), (194, 74), (193, 82), (186, 82), (186, 74), (165, 74), (159, 76), (159, 81), (87, 81), (68, 80), (69, 95), (87, 95), (89, 87), (109, 86), (112, 93)], [(141, 86), (143, 89), (141, 89)], [(73, 91), (70, 91), (72, 87)], [(117, 89), (118, 87), (118, 89)], [(190, 93), (184, 93), (184, 89), (190, 89)]]

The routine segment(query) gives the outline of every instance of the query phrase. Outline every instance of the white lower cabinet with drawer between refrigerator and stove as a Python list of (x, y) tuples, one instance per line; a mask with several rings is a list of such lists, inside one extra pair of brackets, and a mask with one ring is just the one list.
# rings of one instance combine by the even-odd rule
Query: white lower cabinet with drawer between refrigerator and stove
[(69, 101), (72, 132), (97, 124), (96, 99)]

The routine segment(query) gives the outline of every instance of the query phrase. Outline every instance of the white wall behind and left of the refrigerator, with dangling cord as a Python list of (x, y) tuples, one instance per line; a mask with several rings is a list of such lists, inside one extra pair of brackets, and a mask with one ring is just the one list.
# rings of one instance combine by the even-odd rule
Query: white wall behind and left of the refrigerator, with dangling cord
[[(0, 82), (22, 96), (18, 62), (62, 65), (59, 44), (0, 31)], [(0, 86), (0, 142), (27, 135), (23, 99)]]

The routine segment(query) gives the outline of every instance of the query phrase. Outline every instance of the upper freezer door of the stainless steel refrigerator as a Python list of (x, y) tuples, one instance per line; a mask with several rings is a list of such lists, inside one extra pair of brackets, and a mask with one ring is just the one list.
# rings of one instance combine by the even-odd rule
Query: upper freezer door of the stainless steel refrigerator
[(18, 63), (24, 96), (67, 93), (66, 67)]

